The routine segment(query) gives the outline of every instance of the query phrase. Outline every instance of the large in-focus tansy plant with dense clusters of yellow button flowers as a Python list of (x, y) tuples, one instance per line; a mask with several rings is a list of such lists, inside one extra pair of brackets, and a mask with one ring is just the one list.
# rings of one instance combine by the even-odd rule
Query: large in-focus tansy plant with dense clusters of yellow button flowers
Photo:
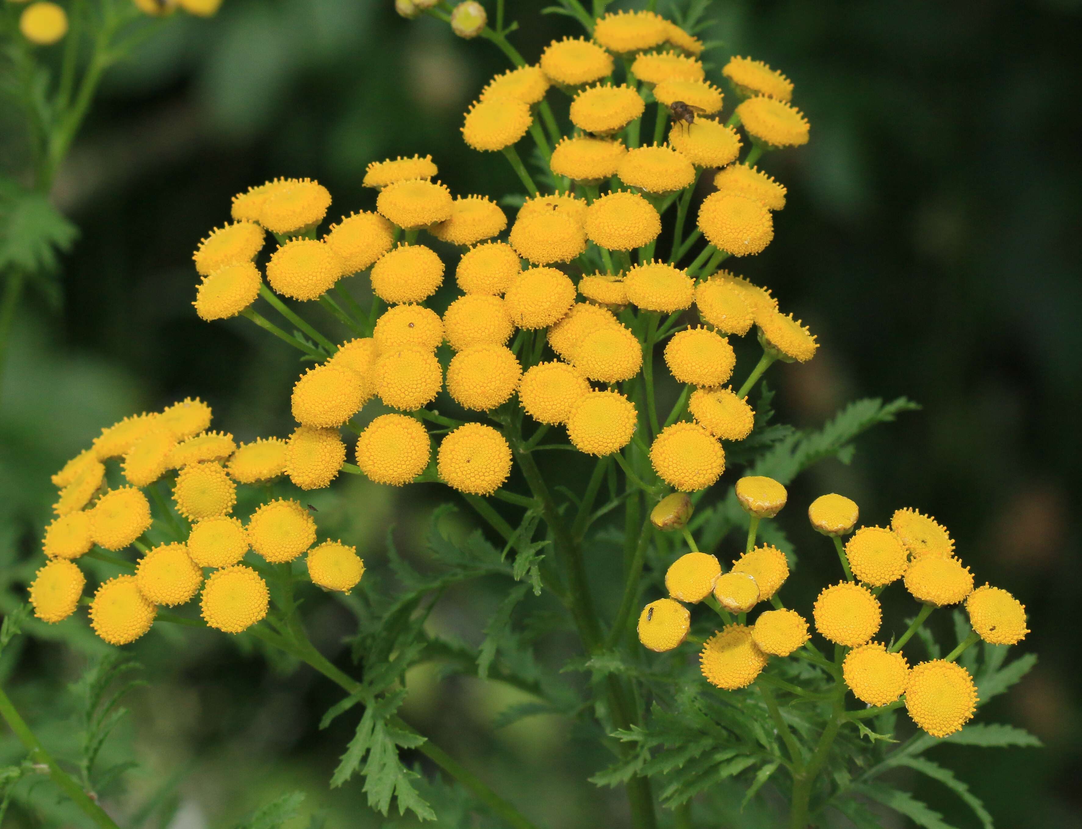
[[(796, 562), (775, 521), (786, 485), (847, 461), (858, 434), (915, 408), (872, 399), (819, 430), (774, 422), (764, 373), (810, 360), (818, 343), (768, 288), (720, 268), (766, 248), (782, 215), (786, 187), (760, 161), (808, 141), (793, 83), (747, 57), (711, 79), (695, 36), (704, 3), (667, 19), (563, 0), (554, 11), (585, 37), (554, 41), (535, 64), (507, 42), (502, 2), (492, 28), (475, 2), (397, 5), (511, 58), (462, 136), (502, 154), (526, 194), (453, 195), (432, 158), (412, 157), (370, 165), (374, 210), (326, 227), (331, 194), (314, 181), (236, 196), (232, 221), (195, 252), (195, 310), (246, 316), (301, 352), (298, 427), (237, 446), (207, 431), (204, 404), (184, 400), (104, 430), (54, 477), (35, 613), (57, 622), (85, 603), (116, 645), (156, 623), (206, 624), (307, 662), (345, 692), (326, 721), (362, 711), (332, 785), (360, 773), (384, 814), (396, 802), (438, 819), (400, 759), (417, 750), (478, 811), (536, 826), (530, 804), (512, 805), (398, 718), (406, 671), (437, 661), (533, 698), (503, 723), (584, 722), (612, 752), (592, 781), (626, 789), (635, 827), (716, 826), (733, 799), (754, 802), (762, 826), (844, 815), (876, 827), (876, 802), (944, 827), (896, 788), (899, 768), (939, 780), (990, 827), (926, 754), (941, 741), (1037, 744), (973, 722), (1033, 662), (1005, 659), (1027, 633), (1025, 608), (975, 589), (934, 518), (906, 508), (860, 526), (856, 501), (836, 494), (806, 509), (824, 537), (809, 554), (833, 545), (839, 580), (809, 608), (782, 600)], [(510, 227), (501, 205), (517, 207)], [(457, 290), (441, 290), (448, 267)], [(304, 303), (352, 339), (318, 330)], [(354, 548), (324, 539), (301, 496), (340, 473), (444, 485), (487, 530), (456, 539), (439, 511), (424, 566), (392, 548), (387, 580), (370, 588)], [(92, 598), (88, 556), (117, 570)], [(503, 600), (478, 648), (425, 627), (448, 585), (492, 577)], [(362, 679), (309, 643), (298, 594), (317, 589), (358, 610)], [(884, 623), (884, 601), (911, 617), (905, 627)], [(925, 627), (937, 608), (956, 642)], [(581, 656), (555, 659), (540, 645), (567, 624)]]

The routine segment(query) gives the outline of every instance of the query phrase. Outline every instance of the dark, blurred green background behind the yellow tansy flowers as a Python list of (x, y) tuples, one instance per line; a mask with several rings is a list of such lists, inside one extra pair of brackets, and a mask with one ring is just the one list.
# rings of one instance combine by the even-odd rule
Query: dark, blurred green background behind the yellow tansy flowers
[[(579, 34), (567, 17), (540, 15), (545, 4), (509, 4), (528, 61)], [(728, 54), (765, 60), (794, 80), (812, 122), (807, 147), (762, 162), (789, 203), (774, 242), (734, 268), (768, 285), (822, 345), (807, 366), (771, 369), (783, 419), (818, 424), (862, 396), (924, 406), (861, 438), (852, 465), (824, 464), (793, 488), (779, 521), (803, 554), (801, 584), (810, 597), (836, 578), (803, 519), (818, 494), (856, 498), (865, 523), (905, 505), (945, 523), (978, 583), (1027, 605), (1033, 632), (1021, 648), (1041, 658), (981, 715), (1029, 728), (1046, 749), (947, 747), (940, 758), (1002, 827), (1082, 826), (1082, 4), (718, 0), (708, 14), (707, 39), (725, 42), (705, 55), (713, 77)], [(37, 292), (24, 304), (0, 389), (4, 610), (37, 566), (49, 474), (102, 425), (198, 395), (238, 439), (291, 430), (293, 354), (243, 320), (204, 324), (190, 305), (192, 251), (228, 219), (229, 197), (276, 175), (312, 176), (330, 188), (337, 219), (372, 207), (360, 186), (370, 160), (414, 153), (432, 154), (457, 194), (517, 192), (503, 159), (469, 149), (459, 132), (504, 68), (491, 44), (407, 22), (391, 0), (226, 0), (211, 21), (172, 22), (111, 71), (54, 189), (81, 231), (58, 277), (63, 302)], [(17, 174), (24, 154), (17, 114), (0, 110), (3, 171)], [(321, 526), (341, 528), (371, 562), (392, 524), (404, 549), (415, 544), (439, 499), (431, 486), (392, 494), (355, 479), (333, 492), (311, 498)], [(454, 594), (439, 616), (466, 639), (484, 624)], [(328, 652), (349, 633), (348, 614), (329, 602), (312, 619)], [(75, 630), (81, 620), (61, 627), (31, 626), (38, 639), (0, 662), (0, 680), (57, 745), (70, 739), (65, 683), (101, 649)], [(221, 635), (167, 634), (132, 648), (150, 686), (118, 739), (142, 763), (120, 801), (175, 777), (174, 829), (228, 826), (290, 789), (308, 792), (308, 812), (328, 810), (328, 826), (381, 825), (358, 780), (327, 789), (352, 728), (346, 718), (315, 728), (334, 688), (238, 655)], [(603, 759), (566, 723), (535, 718), (493, 733), (512, 701), (499, 686), (415, 680), (408, 718), (528, 814), (553, 827), (619, 825), (622, 795), (580, 782)], [(8, 735), (0, 747), (5, 761), (15, 755)], [(975, 825), (945, 790), (914, 785), (950, 823)], [(48, 793), (36, 802), (52, 807)], [(17, 807), (9, 820), (34, 825)]]

